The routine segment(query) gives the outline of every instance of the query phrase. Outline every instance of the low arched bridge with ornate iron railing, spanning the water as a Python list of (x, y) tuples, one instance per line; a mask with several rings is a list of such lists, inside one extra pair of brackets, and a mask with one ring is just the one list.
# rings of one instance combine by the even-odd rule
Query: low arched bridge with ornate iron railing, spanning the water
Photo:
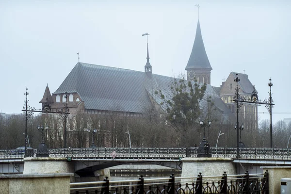
[[(92, 170), (104, 169), (120, 164), (158, 164), (182, 169), (182, 158), (197, 158), (198, 147), (182, 148), (52, 148), (49, 157), (67, 158), (74, 162), (79, 175)], [(291, 150), (282, 148), (210, 147), (212, 158), (231, 158), (234, 163), (247, 165), (291, 165)], [(29, 157), (41, 154), (33, 149)], [(0, 174), (22, 173), (24, 153), (17, 150), (0, 150)], [(242, 166), (242, 165), (241, 165)], [(243, 168), (243, 167), (242, 167)], [(246, 169), (242, 169), (244, 172)]]

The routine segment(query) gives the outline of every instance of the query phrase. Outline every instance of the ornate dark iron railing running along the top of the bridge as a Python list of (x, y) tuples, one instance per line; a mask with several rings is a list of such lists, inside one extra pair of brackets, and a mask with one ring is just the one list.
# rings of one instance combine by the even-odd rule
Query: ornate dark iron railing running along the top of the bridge
[[(113, 153), (116, 160), (121, 159), (151, 159), (151, 160), (175, 160), (184, 157), (203, 156), (203, 149), (198, 147), (182, 148), (49, 148), (45, 149), (49, 157), (71, 157), (94, 158), (95, 160), (112, 159)], [(43, 150), (29, 149), (27, 157), (38, 157)], [(214, 158), (237, 158), (236, 147), (210, 147), (207, 153)], [(0, 159), (23, 159), (23, 150), (0, 150)], [(262, 160), (291, 160), (291, 149), (282, 148), (239, 148), (239, 158), (241, 159), (262, 159)]]

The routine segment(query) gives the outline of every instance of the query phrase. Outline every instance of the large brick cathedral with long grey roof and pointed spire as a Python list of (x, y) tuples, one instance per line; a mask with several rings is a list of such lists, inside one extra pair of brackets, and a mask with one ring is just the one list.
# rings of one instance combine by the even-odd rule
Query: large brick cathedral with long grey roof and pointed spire
[[(185, 67), (187, 80), (206, 83), (206, 93), (214, 100), (214, 106), (225, 115), (234, 115), (236, 73), (230, 72), (226, 81), (219, 87), (211, 86), (210, 61), (208, 59), (198, 20), (193, 49)], [(169, 94), (169, 85), (174, 78), (153, 73), (152, 65), (147, 56), (145, 71), (115, 68), (110, 66), (77, 63), (59, 88), (52, 94), (47, 85), (43, 98), (40, 100), (42, 110), (82, 111), (89, 114), (119, 113), (124, 116), (142, 117), (145, 109), (150, 106), (161, 106), (161, 99), (155, 91), (161, 90)], [(254, 86), (246, 74), (239, 73), (239, 95), (250, 97)], [(258, 107), (244, 105), (240, 110), (240, 122), (250, 116), (258, 125)], [(257, 128), (257, 127), (256, 127)]]

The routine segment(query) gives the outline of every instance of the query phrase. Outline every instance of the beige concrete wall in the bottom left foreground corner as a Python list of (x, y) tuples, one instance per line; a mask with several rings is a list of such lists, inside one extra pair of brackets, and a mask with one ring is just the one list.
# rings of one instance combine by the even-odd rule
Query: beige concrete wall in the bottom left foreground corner
[(0, 175), (0, 194), (69, 194), (73, 174)]

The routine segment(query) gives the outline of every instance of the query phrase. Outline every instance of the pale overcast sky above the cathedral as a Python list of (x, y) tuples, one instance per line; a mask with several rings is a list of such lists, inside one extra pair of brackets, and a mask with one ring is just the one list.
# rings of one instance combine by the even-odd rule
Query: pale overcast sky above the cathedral
[[(290, 0), (0, 0), (0, 111), (21, 113), (25, 88), (41, 108), (78, 62), (144, 71), (146, 37), (155, 74), (186, 73), (198, 10), (211, 85), (231, 71), (248, 74), (268, 97), (274, 121), (291, 118)], [(269, 118), (264, 106), (259, 118)]]

